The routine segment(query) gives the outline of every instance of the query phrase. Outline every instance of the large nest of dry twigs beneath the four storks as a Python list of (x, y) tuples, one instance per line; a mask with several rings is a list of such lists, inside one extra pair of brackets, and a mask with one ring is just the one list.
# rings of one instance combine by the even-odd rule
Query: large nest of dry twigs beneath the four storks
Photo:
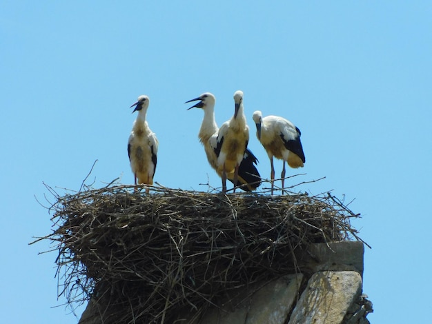
[(41, 239), (59, 252), (59, 295), (92, 297), (104, 323), (171, 323), (180, 309), (199, 316), (229, 290), (298, 271), (296, 252), (310, 243), (359, 239), (350, 225), (359, 215), (328, 193), (108, 185), (56, 199), (54, 230)]

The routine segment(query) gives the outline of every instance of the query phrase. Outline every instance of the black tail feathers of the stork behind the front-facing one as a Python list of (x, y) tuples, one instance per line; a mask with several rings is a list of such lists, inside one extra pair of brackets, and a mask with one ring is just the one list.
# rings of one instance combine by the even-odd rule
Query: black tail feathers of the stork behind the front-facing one
[(233, 179), (229, 179), (235, 186), (244, 191), (256, 190), (261, 184), (261, 176), (256, 168), (258, 159), (249, 150), (244, 152), (242, 163), (239, 165), (239, 177), (237, 183)]

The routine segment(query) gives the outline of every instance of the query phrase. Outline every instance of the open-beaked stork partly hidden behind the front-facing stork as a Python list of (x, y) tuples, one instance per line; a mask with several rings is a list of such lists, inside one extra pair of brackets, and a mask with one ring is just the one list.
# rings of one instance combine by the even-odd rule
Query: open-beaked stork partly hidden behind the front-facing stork
[[(201, 128), (199, 129), (198, 138), (199, 141), (204, 145), (204, 150), (206, 152), (208, 163), (210, 166), (216, 170), (217, 174), (222, 177), (222, 172), (218, 171), (217, 168), (217, 154), (215, 148), (217, 145), (217, 134), (219, 132), (219, 128), (217, 127), (217, 123), (215, 121), (215, 96), (210, 92), (205, 92), (201, 94), (199, 97), (186, 101), (186, 103), (192, 101), (199, 101), (195, 103), (192, 107), (188, 108), (188, 110), (192, 108), (201, 108), (204, 110), (204, 119), (202, 120)], [(213, 145), (210, 144), (213, 143)], [(234, 172), (228, 172), (226, 174), (227, 179), (234, 183), (235, 186), (239, 186), (240, 189), (245, 191), (252, 191), (259, 187), (261, 176), (255, 165), (257, 164), (257, 158), (253, 153), (246, 149), (244, 152), (242, 163), (239, 165), (238, 172), (238, 180), (235, 183)]]

